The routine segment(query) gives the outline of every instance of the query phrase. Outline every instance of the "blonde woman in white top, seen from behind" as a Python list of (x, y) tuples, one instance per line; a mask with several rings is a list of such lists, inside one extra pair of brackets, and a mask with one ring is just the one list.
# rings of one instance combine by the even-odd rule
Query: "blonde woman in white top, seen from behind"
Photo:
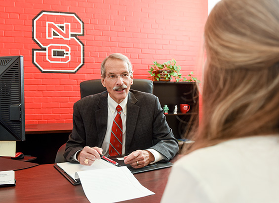
[(279, 0), (221, 0), (204, 29), (202, 119), (162, 203), (279, 202)]

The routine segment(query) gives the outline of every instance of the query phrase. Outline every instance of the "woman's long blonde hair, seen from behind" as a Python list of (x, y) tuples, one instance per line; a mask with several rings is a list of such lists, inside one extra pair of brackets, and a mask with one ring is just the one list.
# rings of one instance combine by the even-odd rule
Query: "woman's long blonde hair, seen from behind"
[(204, 29), (202, 119), (192, 148), (279, 134), (279, 0), (221, 0)]

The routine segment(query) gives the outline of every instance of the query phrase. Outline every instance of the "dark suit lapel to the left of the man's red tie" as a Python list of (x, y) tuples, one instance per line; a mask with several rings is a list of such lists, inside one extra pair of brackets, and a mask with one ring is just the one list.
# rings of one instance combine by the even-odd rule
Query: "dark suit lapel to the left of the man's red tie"
[(108, 92), (101, 95), (97, 105), (99, 109), (95, 111), (95, 119), (96, 119), (97, 135), (99, 141), (98, 147), (101, 147), (107, 131)]

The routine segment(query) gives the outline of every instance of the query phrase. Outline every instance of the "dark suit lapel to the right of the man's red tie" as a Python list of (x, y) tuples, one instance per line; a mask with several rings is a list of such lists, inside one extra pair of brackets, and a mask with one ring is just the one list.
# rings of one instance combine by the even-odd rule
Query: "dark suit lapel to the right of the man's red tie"
[(131, 146), (131, 142), (136, 129), (136, 123), (138, 120), (140, 107), (135, 103), (138, 100), (135, 98), (134, 94), (129, 91), (128, 102), (127, 102), (127, 119), (126, 119), (126, 151), (127, 146)]

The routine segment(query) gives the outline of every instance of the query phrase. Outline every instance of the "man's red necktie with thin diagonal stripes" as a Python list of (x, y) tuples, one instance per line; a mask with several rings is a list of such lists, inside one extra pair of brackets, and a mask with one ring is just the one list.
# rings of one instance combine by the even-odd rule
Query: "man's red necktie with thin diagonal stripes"
[(117, 114), (113, 122), (109, 156), (122, 154), (122, 119), (120, 116), (121, 106), (116, 107)]

